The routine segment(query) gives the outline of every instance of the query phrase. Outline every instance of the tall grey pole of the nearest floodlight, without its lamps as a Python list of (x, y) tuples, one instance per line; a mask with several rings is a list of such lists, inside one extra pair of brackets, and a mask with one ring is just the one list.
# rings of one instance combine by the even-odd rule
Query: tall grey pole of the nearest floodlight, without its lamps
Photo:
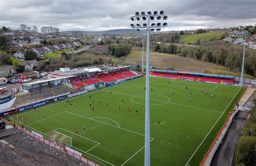
[(145, 166), (150, 165), (150, 14), (147, 14), (147, 54), (146, 54), (146, 99), (145, 99)]

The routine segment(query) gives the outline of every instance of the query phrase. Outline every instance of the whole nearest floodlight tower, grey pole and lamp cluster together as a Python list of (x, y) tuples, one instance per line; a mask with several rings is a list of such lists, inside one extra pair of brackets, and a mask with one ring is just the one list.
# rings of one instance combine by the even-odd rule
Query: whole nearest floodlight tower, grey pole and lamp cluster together
[[(167, 23), (160, 23), (161, 20), (167, 20), (167, 16), (164, 11), (148, 11), (145, 12), (135, 12), (132, 16), (131, 21), (137, 21), (137, 24), (131, 24), (132, 28), (137, 30), (147, 31), (147, 53), (146, 53), (146, 99), (145, 99), (145, 166), (150, 165), (150, 77), (149, 77), (149, 66), (150, 66), (150, 32), (161, 30), (161, 27), (166, 27)], [(153, 23), (150, 25), (150, 21)], [(139, 22), (143, 22), (142, 25)]]

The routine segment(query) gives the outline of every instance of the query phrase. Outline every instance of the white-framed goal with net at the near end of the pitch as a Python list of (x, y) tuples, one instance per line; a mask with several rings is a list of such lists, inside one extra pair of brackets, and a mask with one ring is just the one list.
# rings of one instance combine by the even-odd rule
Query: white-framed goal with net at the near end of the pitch
[(65, 134), (53, 131), (48, 134), (53, 142), (56, 142), (58, 145), (72, 147), (72, 138)]

